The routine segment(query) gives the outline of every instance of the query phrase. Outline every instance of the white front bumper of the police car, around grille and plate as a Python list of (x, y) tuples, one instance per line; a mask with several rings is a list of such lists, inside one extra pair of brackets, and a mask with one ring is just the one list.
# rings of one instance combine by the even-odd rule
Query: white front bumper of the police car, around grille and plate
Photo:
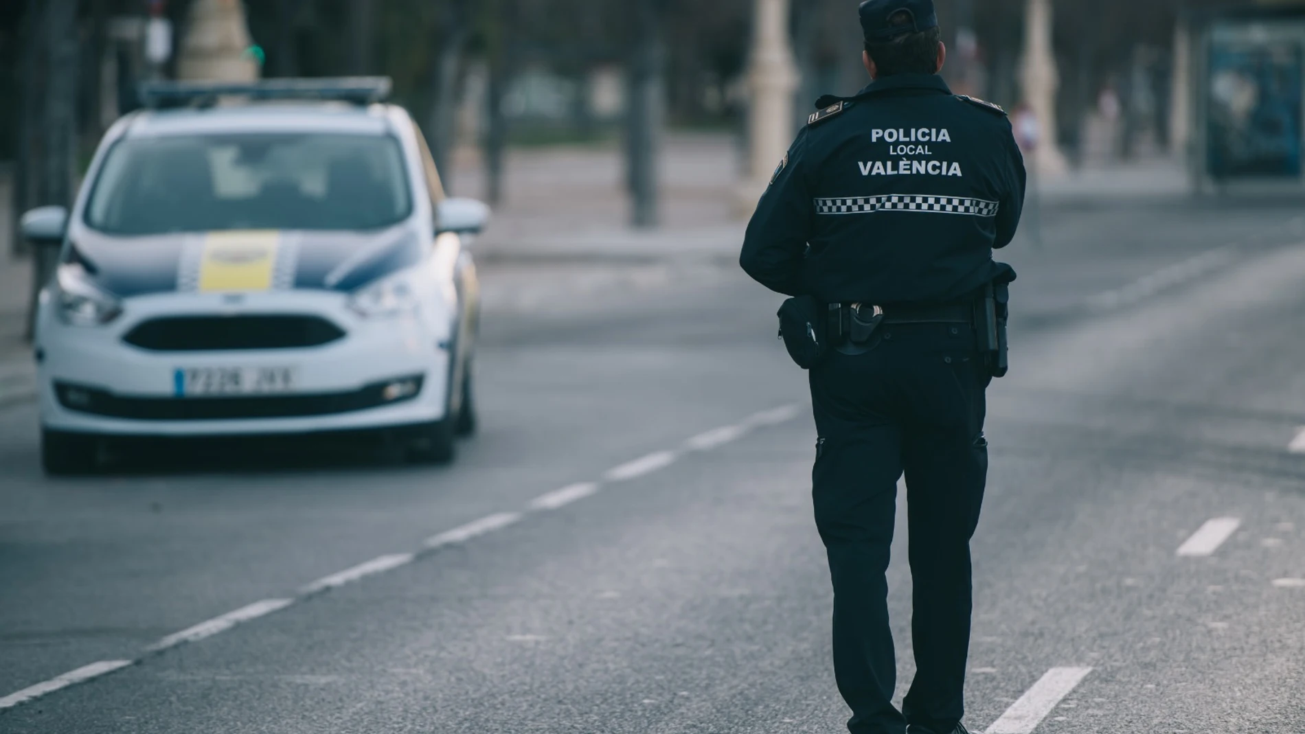
[[(46, 429), (102, 435), (262, 435), (365, 430), (438, 421), (449, 386), (449, 325), (429, 314), (364, 319), (333, 292), (132, 299), (102, 327), (61, 322), (50, 302), (38, 314), (40, 420)], [(124, 342), (161, 317), (308, 314), (345, 335), (308, 348), (150, 351)], [(432, 323), (432, 321), (435, 321)], [(294, 390), (275, 395), (177, 394), (177, 370), (291, 369)]]

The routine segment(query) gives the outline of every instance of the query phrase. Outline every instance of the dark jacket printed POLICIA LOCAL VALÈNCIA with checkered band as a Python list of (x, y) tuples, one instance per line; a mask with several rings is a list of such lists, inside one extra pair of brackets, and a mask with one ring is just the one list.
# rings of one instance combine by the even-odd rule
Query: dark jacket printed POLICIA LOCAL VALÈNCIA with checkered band
[(997, 106), (936, 74), (821, 98), (748, 224), (740, 263), (823, 302), (945, 304), (1014, 280), (1024, 163)]

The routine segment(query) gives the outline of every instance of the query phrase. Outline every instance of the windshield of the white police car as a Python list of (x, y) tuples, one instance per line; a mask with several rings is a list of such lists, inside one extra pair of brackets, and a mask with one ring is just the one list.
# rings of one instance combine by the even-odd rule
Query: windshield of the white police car
[(86, 224), (114, 235), (375, 229), (411, 206), (388, 136), (176, 136), (116, 143)]

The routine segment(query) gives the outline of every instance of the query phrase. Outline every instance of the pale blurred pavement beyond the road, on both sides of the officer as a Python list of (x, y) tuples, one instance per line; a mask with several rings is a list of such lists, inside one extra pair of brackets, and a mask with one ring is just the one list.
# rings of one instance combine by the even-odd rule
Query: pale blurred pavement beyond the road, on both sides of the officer
[[(478, 242), (497, 262), (664, 262), (737, 257), (746, 222), (733, 215), (739, 154), (728, 134), (669, 134), (662, 155), (662, 226), (626, 226), (622, 151), (617, 146), (513, 150), (505, 201)], [(457, 159), (450, 189), (480, 198), (475, 151)], [(1043, 206), (1181, 201), (1188, 179), (1178, 162), (1155, 159), (1087, 168), (1036, 181)]]

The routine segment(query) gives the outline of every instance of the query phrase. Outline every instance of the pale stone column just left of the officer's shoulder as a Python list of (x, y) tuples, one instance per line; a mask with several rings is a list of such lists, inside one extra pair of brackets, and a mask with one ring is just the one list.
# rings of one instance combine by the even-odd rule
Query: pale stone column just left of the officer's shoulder
[(788, 0), (754, 0), (756, 16), (748, 64), (746, 179), (736, 196), (736, 213), (750, 216), (757, 199), (793, 142), (793, 91), (797, 64), (788, 40)]

